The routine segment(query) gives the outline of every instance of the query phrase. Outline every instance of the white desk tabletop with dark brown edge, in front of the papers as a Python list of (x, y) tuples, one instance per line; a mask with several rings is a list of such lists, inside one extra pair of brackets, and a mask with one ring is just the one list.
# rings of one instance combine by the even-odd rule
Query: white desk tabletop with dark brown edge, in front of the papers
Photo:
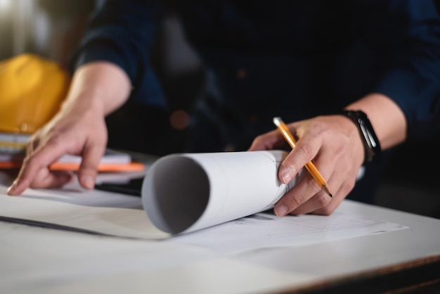
[[(390, 290), (384, 285), (439, 281), (440, 219), (349, 200), (338, 210), (409, 229), (224, 256), (178, 243), (0, 222), (0, 292), (344, 293), (361, 285), (356, 293), (377, 293)], [(390, 283), (396, 273), (414, 279), (398, 277), (396, 286)], [(423, 281), (415, 279), (420, 273)]]

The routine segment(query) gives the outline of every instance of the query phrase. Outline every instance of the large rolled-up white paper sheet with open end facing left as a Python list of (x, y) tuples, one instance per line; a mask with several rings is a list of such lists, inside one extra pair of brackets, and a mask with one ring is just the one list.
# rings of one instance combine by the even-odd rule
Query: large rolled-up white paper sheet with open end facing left
[(169, 234), (203, 229), (268, 210), (297, 182), (278, 180), (285, 151), (179, 153), (148, 169), (142, 203)]

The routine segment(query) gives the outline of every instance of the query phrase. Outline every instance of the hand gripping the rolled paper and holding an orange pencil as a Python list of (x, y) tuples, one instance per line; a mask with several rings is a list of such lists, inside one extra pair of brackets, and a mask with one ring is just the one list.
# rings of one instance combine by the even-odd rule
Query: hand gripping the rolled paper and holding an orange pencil
[[(307, 162), (313, 160), (333, 197), (328, 196), (311, 174), (306, 173), (276, 203), (276, 215), (330, 215), (354, 187), (363, 162), (364, 149), (358, 129), (342, 115), (314, 117), (287, 124), (287, 127), (298, 138), (297, 146), (280, 164), (278, 178), (287, 184)], [(281, 146), (285, 146), (285, 139), (276, 129), (258, 136), (249, 150), (270, 150)]]

